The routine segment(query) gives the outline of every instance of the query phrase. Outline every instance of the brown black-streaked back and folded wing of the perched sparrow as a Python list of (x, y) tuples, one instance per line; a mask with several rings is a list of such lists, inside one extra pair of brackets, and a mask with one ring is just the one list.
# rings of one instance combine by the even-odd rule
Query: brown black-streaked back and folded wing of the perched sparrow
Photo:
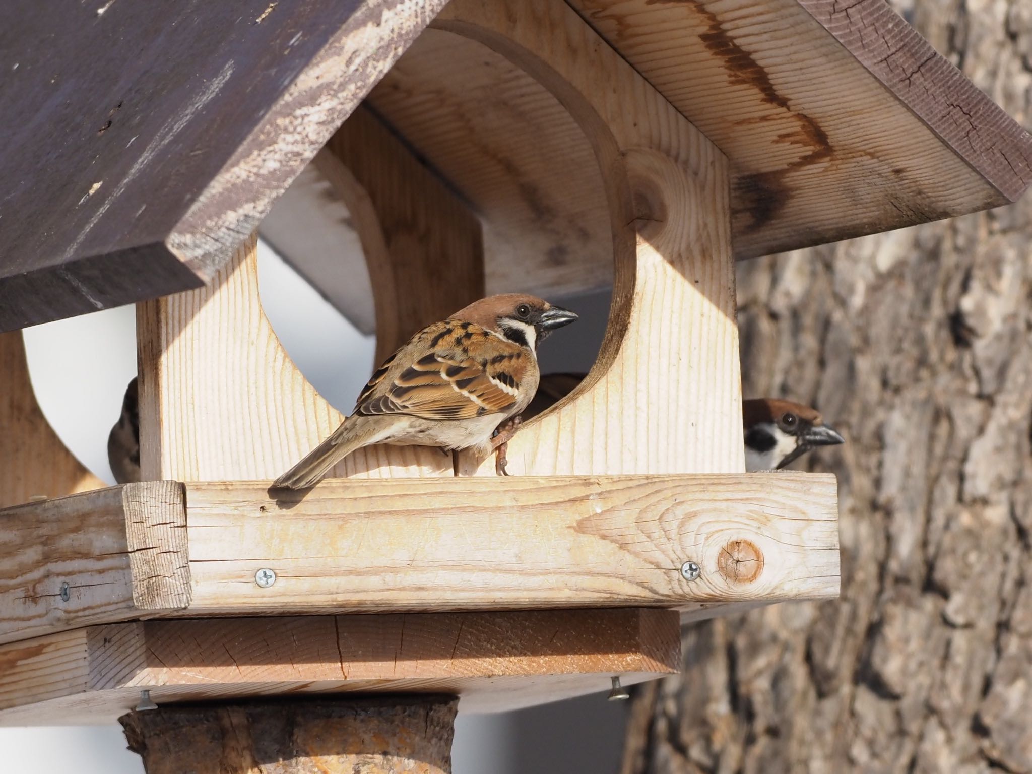
[(515, 406), (526, 368), (519, 346), (455, 320), (425, 328), (407, 354), (392, 356), (374, 375), (359, 396), (356, 414), (423, 419), (503, 414)]

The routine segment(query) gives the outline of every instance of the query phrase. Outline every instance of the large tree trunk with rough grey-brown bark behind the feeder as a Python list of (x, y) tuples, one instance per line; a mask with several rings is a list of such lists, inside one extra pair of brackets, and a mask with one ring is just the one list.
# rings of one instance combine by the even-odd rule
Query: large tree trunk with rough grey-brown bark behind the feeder
[[(1019, 121), (1032, 3), (899, 8)], [(1032, 197), (745, 262), (746, 396), (846, 436), (842, 596), (685, 632), (624, 774), (1032, 772)]]

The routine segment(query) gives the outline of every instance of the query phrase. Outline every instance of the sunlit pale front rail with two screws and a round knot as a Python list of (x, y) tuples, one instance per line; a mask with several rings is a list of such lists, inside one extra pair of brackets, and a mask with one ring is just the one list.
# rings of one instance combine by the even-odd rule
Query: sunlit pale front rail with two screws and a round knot
[(279, 501), (266, 487), (188, 484), (190, 615), (708, 603), (712, 616), (838, 594), (831, 476), (326, 481)]

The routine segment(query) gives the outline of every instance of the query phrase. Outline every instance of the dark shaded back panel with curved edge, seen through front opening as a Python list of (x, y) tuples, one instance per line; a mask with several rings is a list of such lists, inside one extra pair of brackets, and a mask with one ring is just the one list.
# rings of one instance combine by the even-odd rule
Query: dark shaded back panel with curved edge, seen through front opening
[(353, 112), (315, 163), (348, 204), (362, 241), (378, 363), (484, 296), (480, 221), (372, 111)]

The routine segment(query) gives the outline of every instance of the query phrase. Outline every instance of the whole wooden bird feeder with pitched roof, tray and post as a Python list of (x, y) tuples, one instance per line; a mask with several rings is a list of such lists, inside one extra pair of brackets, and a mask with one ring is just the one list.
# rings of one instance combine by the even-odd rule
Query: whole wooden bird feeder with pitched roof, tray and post
[[(744, 473), (734, 260), (1032, 174), (881, 0), (72, 5), (0, 31), (0, 723), (125, 715), (150, 772), (447, 771), (455, 698), (654, 679), (683, 619), (834, 599), (834, 477)], [(509, 478), (381, 446), (273, 499), (342, 417), (262, 313), (259, 228), (380, 354), (612, 282), (605, 342)], [(18, 329), (129, 302), (146, 481), (104, 487)]]

